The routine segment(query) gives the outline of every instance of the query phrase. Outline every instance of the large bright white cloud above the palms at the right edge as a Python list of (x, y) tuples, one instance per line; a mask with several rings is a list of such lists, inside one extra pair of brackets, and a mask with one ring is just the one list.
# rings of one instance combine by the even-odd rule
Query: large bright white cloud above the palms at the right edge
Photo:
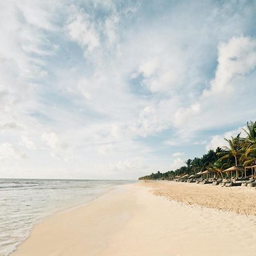
[(210, 88), (193, 98), (189, 106), (175, 110), (172, 119), (179, 134), (193, 138), (200, 130), (234, 126), (254, 118), (254, 96), (250, 91), (254, 90), (255, 65), (255, 39), (240, 36), (220, 43)]

